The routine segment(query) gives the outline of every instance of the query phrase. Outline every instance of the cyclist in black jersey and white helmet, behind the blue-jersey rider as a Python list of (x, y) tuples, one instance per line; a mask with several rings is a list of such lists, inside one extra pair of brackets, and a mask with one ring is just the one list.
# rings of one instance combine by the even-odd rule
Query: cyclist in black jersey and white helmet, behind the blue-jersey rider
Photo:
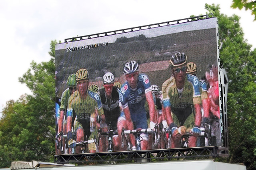
[[(114, 86), (114, 74), (111, 72), (106, 72), (103, 76), (103, 88), (101, 88), (98, 93), (100, 94), (100, 99), (102, 102), (102, 107), (104, 110), (104, 115), (106, 117), (106, 123), (111, 125), (111, 129), (117, 132), (117, 121), (120, 116), (119, 107), (119, 94), (118, 87)], [(118, 150), (117, 144), (114, 144), (115, 149)]]

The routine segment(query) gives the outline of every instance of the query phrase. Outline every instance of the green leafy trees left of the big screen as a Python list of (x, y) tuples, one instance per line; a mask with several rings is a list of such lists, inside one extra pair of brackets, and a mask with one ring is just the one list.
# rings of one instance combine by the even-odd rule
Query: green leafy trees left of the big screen
[(0, 119), (0, 153), (4, 153), (0, 154), (0, 168), (10, 166), (12, 161), (54, 160), (56, 43), (50, 44), (50, 61), (32, 61), (19, 78), (32, 95), (6, 102)]

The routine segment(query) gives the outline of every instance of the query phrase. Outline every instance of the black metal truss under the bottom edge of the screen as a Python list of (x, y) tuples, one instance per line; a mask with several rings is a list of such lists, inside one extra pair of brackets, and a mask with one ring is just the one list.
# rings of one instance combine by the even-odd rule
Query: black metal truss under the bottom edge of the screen
[(208, 159), (219, 156), (218, 147), (196, 147), (159, 150), (138, 150), (122, 152), (101, 152), (86, 154), (55, 155), (58, 164), (84, 163), (106, 164), (127, 162), (156, 162), (163, 160)]

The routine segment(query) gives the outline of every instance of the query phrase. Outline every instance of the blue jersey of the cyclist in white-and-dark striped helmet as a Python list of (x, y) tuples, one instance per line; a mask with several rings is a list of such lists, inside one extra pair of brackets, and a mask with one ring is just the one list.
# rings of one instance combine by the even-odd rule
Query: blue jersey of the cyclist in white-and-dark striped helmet
[(146, 117), (146, 93), (151, 93), (150, 81), (146, 74), (139, 74), (138, 86), (136, 89), (130, 88), (128, 82), (125, 82), (119, 92), (119, 100), (123, 108), (129, 107), (131, 118), (135, 129), (147, 129)]

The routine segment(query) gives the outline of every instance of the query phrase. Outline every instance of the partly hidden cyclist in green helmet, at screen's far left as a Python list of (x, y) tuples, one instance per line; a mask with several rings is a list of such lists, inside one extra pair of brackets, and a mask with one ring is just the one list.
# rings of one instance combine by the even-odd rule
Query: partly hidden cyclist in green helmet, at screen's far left
[[(68, 98), (71, 94), (76, 91), (76, 74), (70, 74), (67, 80), (68, 88), (62, 92), (60, 100), (60, 118), (58, 119), (58, 141), (62, 141), (62, 135), (66, 134), (66, 110), (68, 107)], [(65, 145), (65, 140), (62, 141), (63, 146)]]

